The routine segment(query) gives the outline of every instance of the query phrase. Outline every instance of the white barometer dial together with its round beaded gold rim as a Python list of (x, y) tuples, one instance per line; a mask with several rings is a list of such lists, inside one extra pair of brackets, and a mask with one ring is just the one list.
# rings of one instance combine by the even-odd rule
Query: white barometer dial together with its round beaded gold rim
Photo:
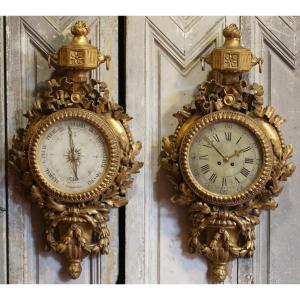
[(112, 183), (120, 149), (102, 117), (83, 109), (66, 109), (39, 124), (30, 142), (29, 163), (49, 194), (62, 201), (81, 202)]

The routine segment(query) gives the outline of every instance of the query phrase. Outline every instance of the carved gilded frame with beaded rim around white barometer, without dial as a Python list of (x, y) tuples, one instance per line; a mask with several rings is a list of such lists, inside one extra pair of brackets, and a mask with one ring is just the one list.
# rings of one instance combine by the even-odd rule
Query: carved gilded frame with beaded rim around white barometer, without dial
[[(19, 172), (30, 200), (42, 210), (46, 249), (62, 254), (68, 273), (76, 279), (81, 261), (88, 254), (108, 254), (109, 210), (127, 204), (132, 174), (142, 163), (135, 157), (141, 149), (134, 142), (128, 122), (131, 118), (115, 103), (105, 82), (87, 78), (87, 72), (106, 63), (104, 55), (90, 45), (89, 27), (78, 21), (71, 28), (69, 45), (49, 54), (49, 66), (57, 70), (47, 88), (37, 95), (25, 113), (28, 124), (20, 128), (9, 150), (9, 161)], [(57, 120), (75, 118), (90, 122), (103, 135), (109, 148), (109, 167), (97, 186), (85, 193), (64, 193), (49, 184), (39, 171), (36, 149), (48, 126)]]

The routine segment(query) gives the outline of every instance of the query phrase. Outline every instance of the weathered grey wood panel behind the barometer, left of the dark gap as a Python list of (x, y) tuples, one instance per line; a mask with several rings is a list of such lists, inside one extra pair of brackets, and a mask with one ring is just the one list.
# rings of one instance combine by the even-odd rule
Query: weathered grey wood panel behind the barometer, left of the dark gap
[[(93, 76), (105, 80), (117, 99), (118, 21), (117, 17), (7, 17), (7, 142), (25, 126), (23, 112), (31, 107), (35, 91), (49, 79), (53, 69), (47, 53), (54, 52), (71, 38), (70, 26), (78, 19), (91, 27), (90, 39), (104, 53), (112, 55), (109, 72)], [(110, 254), (87, 257), (79, 279), (71, 280), (62, 270), (59, 255), (43, 251), (43, 227), (39, 210), (25, 198), (17, 174), (8, 173), (8, 260), (9, 283), (115, 283), (118, 275), (118, 212), (110, 216)]]

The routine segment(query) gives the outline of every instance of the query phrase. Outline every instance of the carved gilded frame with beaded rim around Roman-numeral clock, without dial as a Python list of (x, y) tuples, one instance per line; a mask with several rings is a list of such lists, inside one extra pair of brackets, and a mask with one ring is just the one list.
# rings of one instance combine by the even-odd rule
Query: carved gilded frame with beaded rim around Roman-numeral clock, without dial
[[(285, 144), (281, 132), (283, 118), (273, 107), (264, 107), (261, 85), (241, 79), (241, 74), (256, 64), (261, 70), (262, 59), (241, 47), (236, 25), (226, 27), (223, 34), (224, 45), (201, 58), (202, 67), (209, 63), (221, 81), (200, 84), (194, 100), (174, 114), (179, 124), (172, 135), (163, 138), (161, 153), (161, 165), (175, 190), (171, 201), (189, 210), (190, 252), (208, 259), (209, 277), (214, 283), (225, 280), (230, 260), (253, 255), (254, 227), (259, 224), (260, 212), (277, 207), (274, 197), (282, 190), (281, 182), (295, 170), (288, 162), (293, 147)], [(243, 119), (241, 123), (260, 139), (264, 167), (262, 176), (244, 194), (216, 196), (194, 182), (187, 155), (198, 130), (226, 115)]]

